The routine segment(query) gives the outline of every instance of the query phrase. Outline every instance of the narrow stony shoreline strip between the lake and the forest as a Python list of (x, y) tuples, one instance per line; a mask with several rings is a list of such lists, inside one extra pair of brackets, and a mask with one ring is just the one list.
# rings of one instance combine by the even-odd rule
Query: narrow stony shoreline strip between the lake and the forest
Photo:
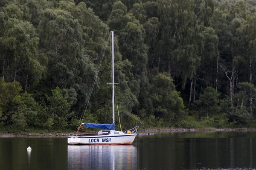
[[(157, 132), (195, 132), (195, 131), (256, 131), (254, 128), (222, 128), (222, 129), (217, 129), (217, 128), (212, 128), (212, 129), (146, 129), (146, 130), (139, 130), (138, 131), (138, 136), (141, 135), (155, 135)], [(30, 134), (12, 134), (12, 133), (2, 133), (0, 134), (0, 137), (32, 137), (32, 136), (38, 136), (38, 137), (50, 137), (50, 136), (72, 136), (72, 133), (60, 133), (60, 134), (52, 134), (52, 133), (30, 133)]]

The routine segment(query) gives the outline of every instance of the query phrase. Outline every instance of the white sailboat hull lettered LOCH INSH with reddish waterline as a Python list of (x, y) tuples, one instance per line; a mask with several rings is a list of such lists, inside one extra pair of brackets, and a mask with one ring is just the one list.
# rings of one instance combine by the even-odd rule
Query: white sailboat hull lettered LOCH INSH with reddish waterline
[(86, 145), (118, 145), (132, 144), (136, 137), (136, 133), (127, 134), (111, 130), (107, 135), (92, 135), (92, 136), (69, 136), (67, 137), (68, 144), (86, 144)]

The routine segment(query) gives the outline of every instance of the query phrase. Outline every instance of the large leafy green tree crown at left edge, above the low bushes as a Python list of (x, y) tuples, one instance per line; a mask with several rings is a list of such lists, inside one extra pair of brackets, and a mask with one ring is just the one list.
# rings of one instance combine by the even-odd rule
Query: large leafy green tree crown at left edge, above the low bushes
[(6, 82), (19, 81), (26, 90), (38, 83), (44, 71), (35, 28), (31, 23), (14, 17), (6, 21), (3, 34), (0, 37), (1, 74)]

